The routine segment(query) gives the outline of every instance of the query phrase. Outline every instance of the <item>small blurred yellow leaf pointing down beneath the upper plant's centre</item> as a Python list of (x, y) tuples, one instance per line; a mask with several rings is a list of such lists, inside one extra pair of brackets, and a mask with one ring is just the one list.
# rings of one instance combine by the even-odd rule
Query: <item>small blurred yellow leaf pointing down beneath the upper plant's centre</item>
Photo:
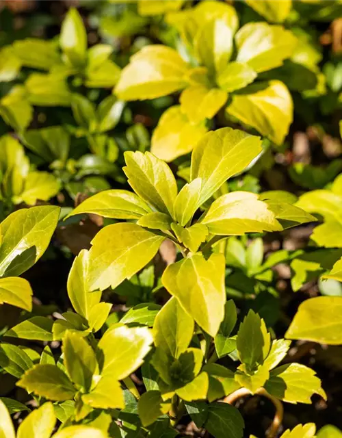
[[(190, 123), (200, 123), (206, 118), (213, 118), (226, 103), (227, 98), (226, 91), (220, 90), (220, 88), (193, 85), (185, 88), (181, 94), (181, 111), (187, 116)], [(170, 120), (166, 120), (165, 123), (167, 121)]]

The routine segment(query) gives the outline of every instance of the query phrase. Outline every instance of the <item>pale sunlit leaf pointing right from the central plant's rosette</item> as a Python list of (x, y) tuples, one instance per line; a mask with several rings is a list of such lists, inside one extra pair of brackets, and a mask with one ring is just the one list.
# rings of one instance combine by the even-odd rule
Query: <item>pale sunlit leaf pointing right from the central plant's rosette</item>
[(280, 231), (282, 227), (267, 203), (257, 194), (231, 192), (220, 196), (201, 221), (217, 235), (244, 235), (262, 231)]

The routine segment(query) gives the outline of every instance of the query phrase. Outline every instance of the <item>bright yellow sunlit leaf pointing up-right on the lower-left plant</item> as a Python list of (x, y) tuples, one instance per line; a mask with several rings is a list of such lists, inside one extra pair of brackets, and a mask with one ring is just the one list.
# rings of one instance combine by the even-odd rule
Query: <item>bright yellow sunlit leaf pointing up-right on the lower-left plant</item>
[(142, 365), (152, 342), (153, 337), (147, 327), (109, 328), (98, 342), (104, 358), (101, 375), (116, 380), (129, 376)]

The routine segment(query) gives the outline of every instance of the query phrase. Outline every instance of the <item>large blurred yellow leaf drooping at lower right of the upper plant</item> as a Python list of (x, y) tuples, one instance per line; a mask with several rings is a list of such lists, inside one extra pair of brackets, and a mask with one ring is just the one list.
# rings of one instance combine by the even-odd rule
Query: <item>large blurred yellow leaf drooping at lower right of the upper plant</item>
[(259, 82), (234, 94), (226, 112), (280, 145), (293, 120), (293, 103), (284, 83)]

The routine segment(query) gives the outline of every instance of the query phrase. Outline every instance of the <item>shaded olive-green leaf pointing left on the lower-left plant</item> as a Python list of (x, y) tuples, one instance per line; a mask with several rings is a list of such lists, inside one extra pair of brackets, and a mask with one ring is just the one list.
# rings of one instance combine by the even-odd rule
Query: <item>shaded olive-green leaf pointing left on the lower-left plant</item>
[(75, 389), (68, 376), (56, 365), (34, 365), (16, 385), (49, 400), (71, 400)]

